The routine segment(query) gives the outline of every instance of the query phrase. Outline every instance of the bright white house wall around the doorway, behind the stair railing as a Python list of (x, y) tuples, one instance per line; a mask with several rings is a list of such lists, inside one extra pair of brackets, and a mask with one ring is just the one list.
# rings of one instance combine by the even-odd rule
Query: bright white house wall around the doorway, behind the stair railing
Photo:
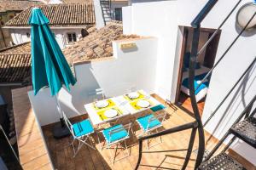
[[(177, 80), (175, 80), (177, 66), (175, 65), (179, 64), (177, 50), (180, 50), (177, 48), (180, 44), (176, 43), (179, 39), (178, 34), (180, 34), (177, 28), (178, 26), (190, 26), (190, 22), (199, 13), (204, 4), (207, 3), (207, 0), (133, 2), (135, 3), (132, 3), (131, 7), (123, 10), (124, 26), (128, 26), (125, 27), (124, 32), (159, 38), (156, 93), (160, 94), (164, 99), (168, 98), (174, 101), (177, 84)], [(241, 5), (247, 2), (252, 1), (243, 0)], [(202, 22), (201, 27), (217, 28), (235, 3), (235, 1), (218, 1), (217, 5), (212, 8), (211, 13)], [(237, 10), (238, 8), (222, 28), (216, 61), (237, 35)], [(255, 32), (243, 34), (216, 70), (213, 71), (203, 112), (203, 121), (210, 116), (221, 99), (224, 98), (224, 95), (228, 93), (242, 72), (246, 70), (249, 63), (254, 59), (256, 54), (254, 44), (256, 44)], [(220, 139), (229, 129), (236, 117), (245, 108), (245, 105), (255, 95), (255, 77), (256, 71), (253, 70), (247, 75), (241, 86), (235, 89), (235, 93), (230, 95), (230, 98), (206, 127), (209, 133)], [(256, 165), (256, 150), (253, 150), (251, 146), (236, 142), (233, 149)]]

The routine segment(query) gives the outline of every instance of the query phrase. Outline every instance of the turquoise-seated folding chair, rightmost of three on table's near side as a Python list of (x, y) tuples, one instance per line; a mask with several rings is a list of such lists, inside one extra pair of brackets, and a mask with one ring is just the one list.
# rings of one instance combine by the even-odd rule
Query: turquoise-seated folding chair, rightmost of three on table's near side
[[(141, 135), (142, 136), (145, 134), (149, 135), (154, 130), (158, 132), (158, 128), (163, 126), (162, 122), (164, 122), (165, 117), (166, 117), (166, 112), (160, 113), (157, 116), (154, 116), (153, 114), (149, 114), (147, 116), (142, 116), (137, 118), (136, 121), (138, 125), (143, 129), (143, 133)], [(162, 143), (161, 137), (160, 137), (160, 142), (157, 144), (160, 144), (160, 143)], [(154, 145), (152, 145), (151, 147), (153, 147)], [(147, 140), (147, 148), (149, 150), (149, 140)]]

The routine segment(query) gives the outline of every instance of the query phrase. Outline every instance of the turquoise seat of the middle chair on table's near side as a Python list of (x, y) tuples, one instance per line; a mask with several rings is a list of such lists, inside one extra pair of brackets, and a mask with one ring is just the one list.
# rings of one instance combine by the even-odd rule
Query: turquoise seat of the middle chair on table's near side
[(123, 127), (123, 125), (119, 124), (119, 125), (115, 125), (113, 127), (108, 127), (108, 128), (106, 128), (102, 131), (102, 133), (103, 133), (105, 139), (107, 140), (108, 144), (113, 143), (114, 141), (117, 141), (119, 139), (124, 139), (125, 137), (129, 136), (129, 133), (125, 130), (125, 128), (123, 130), (120, 130), (119, 132), (111, 133), (109, 135), (110, 131), (112, 131), (114, 129), (118, 129), (120, 127)]

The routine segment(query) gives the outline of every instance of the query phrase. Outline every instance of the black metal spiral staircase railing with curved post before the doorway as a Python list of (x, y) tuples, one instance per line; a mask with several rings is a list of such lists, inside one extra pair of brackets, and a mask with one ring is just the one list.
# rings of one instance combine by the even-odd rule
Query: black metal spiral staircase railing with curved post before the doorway
[[(253, 14), (251, 19), (247, 22), (247, 25), (240, 31), (240, 33), (236, 36), (236, 38), (233, 40), (233, 42), (230, 43), (230, 46), (224, 51), (224, 54), (221, 55), (221, 57), (218, 59), (216, 64), (213, 65), (212, 69), (207, 73), (206, 77), (204, 77), (203, 80), (201, 81), (201, 83), (195, 88), (194, 79), (195, 79), (196, 58), (207, 48), (209, 43), (212, 42), (213, 38), (216, 35), (218, 35), (218, 32), (221, 30), (222, 26), (224, 26), (224, 23), (230, 18), (231, 14), (234, 13), (236, 8), (241, 3), (241, 0), (239, 0), (236, 3), (236, 5), (230, 10), (230, 13), (224, 18), (224, 20), (222, 21), (220, 26), (218, 26), (218, 29), (216, 31), (214, 31), (214, 33), (209, 38), (209, 40), (198, 51), (198, 43), (199, 43), (200, 30), (201, 30), (201, 22), (202, 22), (202, 20), (205, 19), (207, 14), (211, 11), (211, 9), (214, 7), (214, 5), (217, 2), (218, 2), (218, 0), (209, 0), (207, 2), (207, 4), (204, 6), (204, 8), (201, 9), (201, 12), (199, 14), (197, 14), (197, 16), (195, 17), (195, 20), (193, 20), (191, 22), (191, 26), (193, 26), (193, 39), (192, 39), (192, 48), (191, 48), (191, 54), (190, 54), (190, 60), (189, 60), (189, 97), (191, 99), (191, 105), (192, 105), (194, 115), (195, 115), (195, 122), (188, 123), (188, 124), (185, 124), (185, 125), (181, 125), (181, 126), (178, 126), (178, 127), (173, 127), (171, 129), (167, 129), (167, 130), (162, 131), (160, 133), (154, 133), (152, 135), (140, 138), (139, 139), (139, 157), (138, 157), (136, 169), (139, 166), (155, 167), (155, 166), (152, 166), (152, 165), (140, 165), (140, 161), (142, 159), (142, 154), (143, 153), (152, 153), (152, 152), (143, 151), (143, 140), (151, 139), (151, 138), (154, 138), (154, 137), (158, 137), (158, 136), (166, 135), (166, 134), (170, 134), (170, 133), (177, 133), (177, 132), (181, 132), (183, 130), (188, 130), (188, 129), (192, 129), (192, 132), (191, 132), (191, 136), (190, 136), (190, 140), (189, 140), (189, 148), (187, 149), (187, 156), (185, 157), (185, 161), (183, 163), (182, 169), (185, 169), (187, 167), (188, 162), (189, 162), (189, 158), (191, 156), (191, 150), (193, 148), (194, 141), (195, 141), (196, 130), (198, 132), (198, 138), (199, 138), (198, 154), (197, 154), (197, 157), (196, 157), (196, 160), (195, 160), (195, 169), (197, 169), (197, 167), (200, 166), (200, 164), (203, 160), (203, 156), (204, 156), (204, 152), (205, 152), (205, 135), (204, 135), (203, 127), (206, 125), (207, 122), (209, 122), (211, 120), (212, 116), (214, 116), (214, 114), (218, 111), (219, 107), (224, 103), (225, 99), (228, 98), (228, 96), (231, 94), (233, 89), (236, 88), (237, 84), (239, 82), (241, 82), (242, 77), (244, 77), (245, 74), (247, 73), (247, 71), (249, 71), (252, 68), (252, 66), (253, 66), (253, 64), (256, 60), (256, 59), (254, 59), (253, 62), (251, 63), (251, 65), (248, 66), (247, 70), (241, 75), (239, 80), (235, 83), (234, 87), (230, 89), (230, 92), (224, 97), (224, 99), (221, 101), (220, 105), (218, 105), (217, 109), (212, 112), (212, 115), (209, 117), (207, 122), (204, 125), (202, 125), (200, 112), (198, 110), (197, 102), (196, 102), (196, 99), (195, 99), (195, 91), (201, 86), (201, 83), (204, 82), (207, 79), (207, 77), (209, 77), (211, 75), (212, 71), (216, 68), (216, 66), (220, 63), (220, 61), (222, 61), (222, 59), (224, 59), (224, 56), (230, 51), (230, 48), (233, 47), (233, 45), (236, 43), (237, 39), (239, 37), (241, 37), (241, 34), (247, 29), (247, 26), (250, 24), (250, 22), (253, 20), (254, 16), (256, 15), (256, 13)], [(161, 151), (158, 151), (157, 153), (166, 152), (166, 151), (179, 151), (179, 150), (161, 150)]]

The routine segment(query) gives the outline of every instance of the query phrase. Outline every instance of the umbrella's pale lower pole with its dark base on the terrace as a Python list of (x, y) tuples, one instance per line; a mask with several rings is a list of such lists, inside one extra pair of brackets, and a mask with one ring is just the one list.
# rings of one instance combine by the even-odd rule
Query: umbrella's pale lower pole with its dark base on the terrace
[(53, 127), (53, 135), (55, 139), (61, 139), (71, 134), (63, 120), (63, 112), (61, 110), (61, 105), (58, 96), (59, 93), (55, 95), (55, 100), (57, 104), (57, 112), (60, 116), (60, 122), (56, 122), (55, 126)]

